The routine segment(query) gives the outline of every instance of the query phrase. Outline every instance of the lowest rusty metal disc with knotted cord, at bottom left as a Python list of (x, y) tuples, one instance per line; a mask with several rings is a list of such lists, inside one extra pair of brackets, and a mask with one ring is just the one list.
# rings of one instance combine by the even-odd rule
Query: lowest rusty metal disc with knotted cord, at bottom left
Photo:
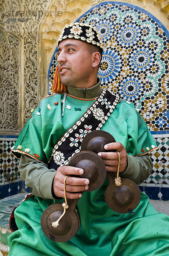
[(45, 236), (55, 242), (65, 242), (73, 238), (79, 230), (80, 220), (76, 210), (69, 207), (59, 221), (58, 227), (52, 227), (63, 213), (62, 203), (51, 204), (42, 213), (41, 228)]

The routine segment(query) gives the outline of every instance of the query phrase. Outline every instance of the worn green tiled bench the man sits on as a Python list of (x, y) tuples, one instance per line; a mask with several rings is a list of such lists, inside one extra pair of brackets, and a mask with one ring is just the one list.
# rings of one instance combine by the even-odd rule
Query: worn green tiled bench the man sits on
[[(0, 256), (8, 255), (7, 237), (10, 234), (9, 217), (14, 207), (25, 198), (27, 193), (23, 192), (17, 195), (0, 200)], [(169, 215), (169, 201), (149, 200), (158, 212)]]

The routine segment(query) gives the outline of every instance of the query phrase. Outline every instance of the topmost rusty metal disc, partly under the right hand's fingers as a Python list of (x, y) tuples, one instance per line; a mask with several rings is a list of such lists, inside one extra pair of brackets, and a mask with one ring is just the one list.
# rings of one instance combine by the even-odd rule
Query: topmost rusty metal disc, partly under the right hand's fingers
[[(113, 152), (113, 150), (105, 150), (104, 145), (115, 142), (115, 138), (107, 131), (96, 130), (91, 131), (85, 136), (82, 141), (81, 150), (93, 151), (96, 154), (99, 152)], [(115, 151), (115, 150), (114, 150)]]

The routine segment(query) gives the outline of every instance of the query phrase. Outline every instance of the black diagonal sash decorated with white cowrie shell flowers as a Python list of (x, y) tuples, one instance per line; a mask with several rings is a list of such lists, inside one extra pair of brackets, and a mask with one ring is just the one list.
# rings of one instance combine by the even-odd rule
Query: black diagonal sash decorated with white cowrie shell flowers
[(119, 97), (111, 90), (103, 89), (90, 108), (54, 146), (48, 160), (48, 168), (56, 170), (59, 166), (68, 165), (70, 158), (80, 151), (82, 140), (86, 134), (100, 130), (113, 112), (118, 100)]

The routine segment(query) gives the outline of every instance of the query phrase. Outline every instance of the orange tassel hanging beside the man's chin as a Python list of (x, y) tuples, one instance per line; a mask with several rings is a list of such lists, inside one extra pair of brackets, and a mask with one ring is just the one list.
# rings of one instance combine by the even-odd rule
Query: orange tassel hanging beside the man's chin
[(54, 82), (52, 85), (52, 93), (65, 93), (67, 91), (67, 86), (62, 84), (59, 76), (59, 65), (56, 67)]

